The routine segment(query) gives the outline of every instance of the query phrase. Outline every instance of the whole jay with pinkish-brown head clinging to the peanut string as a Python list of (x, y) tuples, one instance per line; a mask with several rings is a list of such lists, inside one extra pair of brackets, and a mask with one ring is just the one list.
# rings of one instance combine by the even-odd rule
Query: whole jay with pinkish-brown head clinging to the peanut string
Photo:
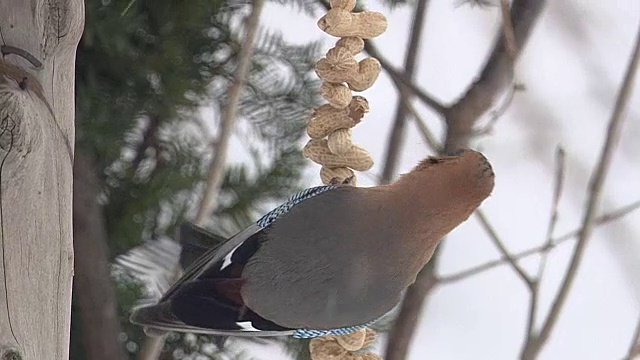
[[(439, 240), (493, 186), (487, 159), (466, 150), (430, 157), (390, 185), (307, 189), (208, 250), (131, 321), (240, 336), (358, 330), (399, 302)], [(191, 234), (214, 237), (194, 226)]]

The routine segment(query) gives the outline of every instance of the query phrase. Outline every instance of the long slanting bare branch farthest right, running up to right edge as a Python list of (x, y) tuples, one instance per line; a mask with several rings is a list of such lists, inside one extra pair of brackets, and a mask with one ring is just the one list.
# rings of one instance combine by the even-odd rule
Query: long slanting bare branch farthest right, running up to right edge
[(636, 35), (635, 49), (633, 50), (633, 54), (629, 61), (629, 66), (627, 67), (622, 87), (618, 94), (613, 113), (611, 114), (611, 119), (609, 120), (607, 136), (602, 152), (600, 153), (600, 159), (598, 160), (598, 164), (591, 179), (586, 211), (582, 220), (582, 231), (578, 237), (578, 242), (562, 281), (562, 285), (560, 286), (560, 290), (551, 305), (551, 310), (544, 320), (538, 336), (530, 338), (525, 344), (522, 351), (522, 359), (535, 359), (549, 339), (549, 336), (560, 317), (560, 312), (568, 298), (569, 291), (571, 290), (573, 281), (575, 280), (578, 272), (577, 270), (582, 263), (582, 257), (584, 256), (585, 249), (595, 227), (596, 211), (598, 211), (598, 208), (600, 207), (602, 190), (604, 189), (604, 183), (607, 178), (607, 174), (609, 173), (609, 168), (611, 167), (611, 160), (620, 140), (622, 124), (625, 120), (624, 115), (627, 110), (629, 98), (631, 97), (631, 92), (633, 91), (633, 84), (639, 62), (640, 27), (638, 28), (638, 33)]

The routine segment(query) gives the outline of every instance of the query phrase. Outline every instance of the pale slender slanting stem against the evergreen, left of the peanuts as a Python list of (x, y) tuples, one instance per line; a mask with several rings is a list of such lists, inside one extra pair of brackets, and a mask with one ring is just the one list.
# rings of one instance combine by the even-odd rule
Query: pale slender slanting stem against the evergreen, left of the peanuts
[[(207, 218), (210, 216), (225, 172), (226, 156), (229, 148), (231, 133), (236, 120), (238, 103), (242, 94), (242, 87), (246, 81), (251, 66), (251, 55), (253, 54), (254, 42), (258, 31), (260, 14), (264, 0), (253, 0), (251, 13), (246, 19), (245, 36), (238, 54), (238, 67), (236, 68), (235, 78), (229, 87), (229, 96), (227, 99), (227, 107), (220, 122), (220, 133), (214, 146), (214, 154), (209, 164), (209, 173), (207, 182), (203, 192), (203, 198), (198, 209), (198, 214), (194, 223), (203, 226)], [(180, 269), (177, 267), (174, 271), (175, 278), (178, 277)], [(162, 347), (164, 346), (165, 337), (148, 337), (142, 350), (138, 356), (140, 360), (155, 360), (159, 357)]]

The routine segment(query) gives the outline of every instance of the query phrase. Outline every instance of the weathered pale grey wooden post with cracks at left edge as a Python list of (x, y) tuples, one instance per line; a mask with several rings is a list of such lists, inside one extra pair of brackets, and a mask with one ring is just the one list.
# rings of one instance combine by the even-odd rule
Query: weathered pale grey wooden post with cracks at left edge
[(66, 359), (81, 0), (0, 1), (0, 355)]

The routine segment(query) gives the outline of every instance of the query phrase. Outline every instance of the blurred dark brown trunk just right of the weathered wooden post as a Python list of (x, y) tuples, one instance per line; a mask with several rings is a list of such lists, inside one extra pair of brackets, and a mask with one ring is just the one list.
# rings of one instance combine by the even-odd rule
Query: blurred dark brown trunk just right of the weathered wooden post
[(127, 358), (118, 335), (117, 299), (109, 272), (109, 248), (95, 161), (76, 154), (73, 168), (74, 297), (80, 310), (82, 341), (91, 360)]

